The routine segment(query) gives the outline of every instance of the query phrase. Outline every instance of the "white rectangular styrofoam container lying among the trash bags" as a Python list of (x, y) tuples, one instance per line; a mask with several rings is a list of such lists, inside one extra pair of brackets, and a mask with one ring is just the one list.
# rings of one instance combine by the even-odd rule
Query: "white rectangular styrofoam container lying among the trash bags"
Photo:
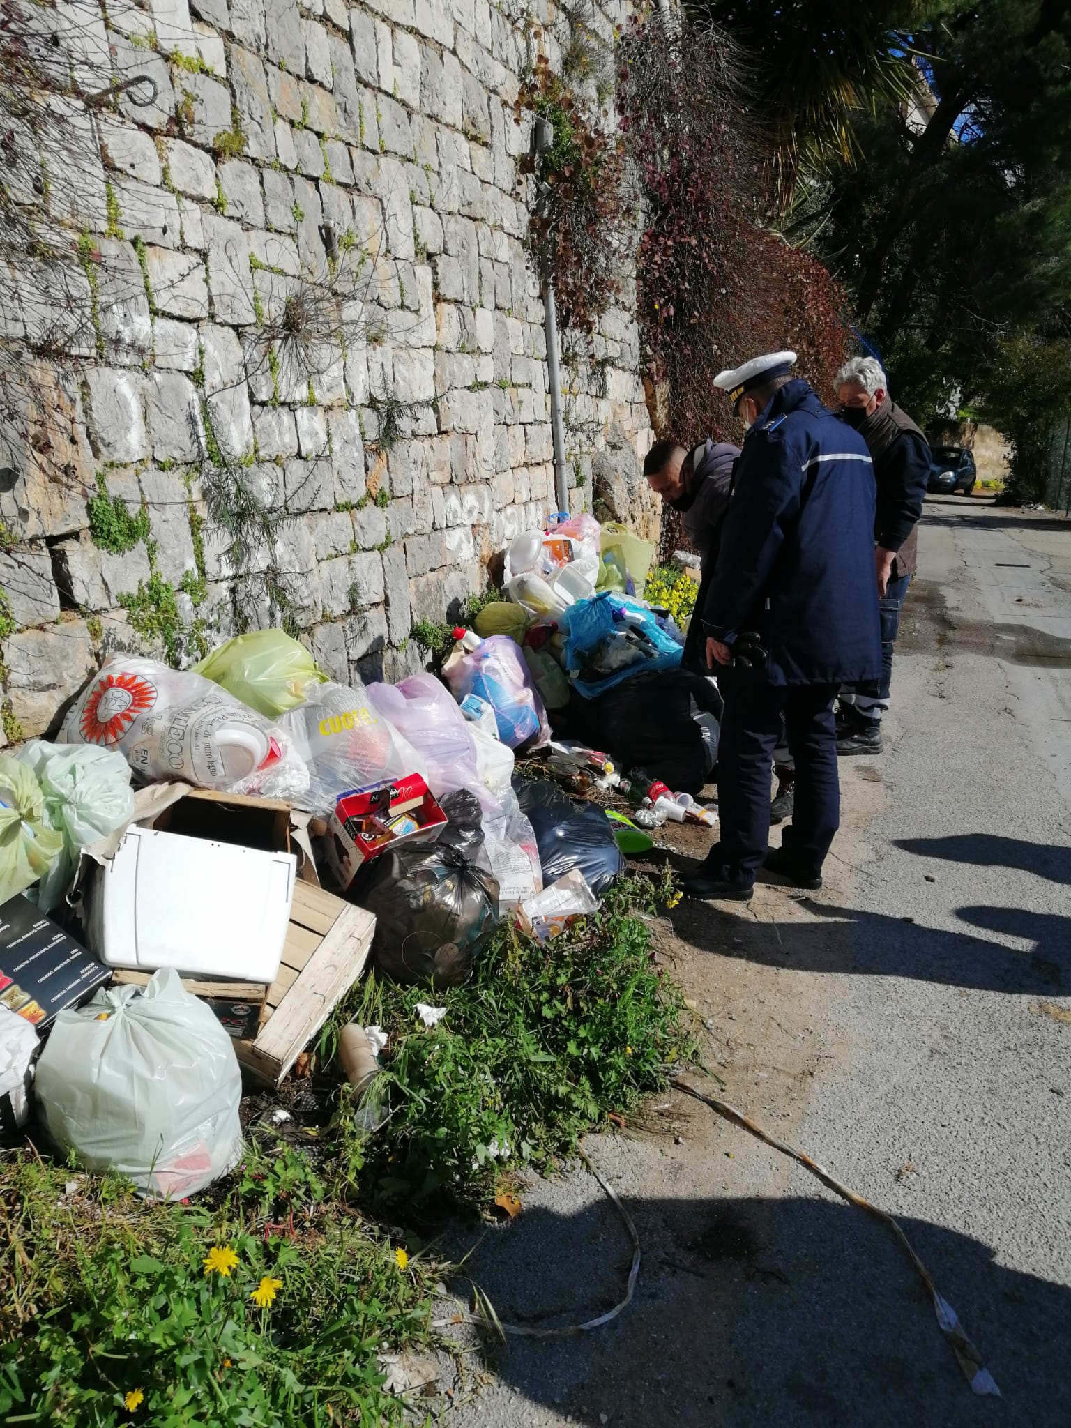
[(297, 858), (129, 828), (90, 885), (87, 935), (109, 967), (273, 982)]

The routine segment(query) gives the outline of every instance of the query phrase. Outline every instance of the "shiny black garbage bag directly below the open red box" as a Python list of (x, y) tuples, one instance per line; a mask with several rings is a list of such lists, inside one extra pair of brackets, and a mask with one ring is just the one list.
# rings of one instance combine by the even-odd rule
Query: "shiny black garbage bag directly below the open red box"
[(498, 883), (484, 848), (480, 804), (468, 790), (443, 798), (450, 823), (436, 843), (373, 858), (350, 897), (376, 914), (371, 954), (398, 982), (458, 987), (498, 921)]

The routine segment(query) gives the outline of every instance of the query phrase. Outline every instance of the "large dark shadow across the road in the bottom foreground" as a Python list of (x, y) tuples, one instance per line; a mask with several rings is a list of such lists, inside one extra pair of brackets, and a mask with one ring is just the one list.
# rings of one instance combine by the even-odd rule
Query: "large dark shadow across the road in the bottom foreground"
[[(924, 1190), (915, 1194), (922, 1212)], [(570, 1422), (902, 1428), (1065, 1417), (1058, 1325), (1071, 1322), (1071, 1291), (1000, 1265), (977, 1240), (901, 1220), (1002, 1401), (971, 1392), (915, 1271), (864, 1212), (818, 1197), (627, 1205), (644, 1255), (634, 1302), (591, 1334), (510, 1339), (496, 1365)], [(575, 1214), (526, 1211), (486, 1235), (467, 1271), (501, 1319), (550, 1327), (613, 1305), (630, 1254), (614, 1211), (597, 1201)], [(526, 1421), (523, 1408), (510, 1415)]]

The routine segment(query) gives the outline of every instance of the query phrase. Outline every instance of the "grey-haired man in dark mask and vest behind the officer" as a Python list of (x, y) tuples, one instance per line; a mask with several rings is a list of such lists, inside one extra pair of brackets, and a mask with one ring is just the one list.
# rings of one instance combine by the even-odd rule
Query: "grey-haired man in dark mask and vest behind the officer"
[(881, 610), (881, 678), (841, 691), (837, 753), (880, 754), (900, 607), (915, 573), (917, 523), (930, 478), (930, 447), (911, 417), (890, 397), (885, 373), (874, 357), (850, 357), (833, 384), (841, 418), (855, 427), (874, 461), (874, 570)]

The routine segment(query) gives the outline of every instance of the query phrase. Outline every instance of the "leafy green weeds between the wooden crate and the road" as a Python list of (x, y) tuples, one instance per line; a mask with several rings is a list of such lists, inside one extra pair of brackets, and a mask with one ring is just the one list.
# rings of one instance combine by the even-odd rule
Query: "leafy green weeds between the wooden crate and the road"
[[(393, 1115), (360, 1164), (343, 1134), (334, 1172), (348, 1162), (374, 1207), (486, 1201), (508, 1170), (545, 1168), (608, 1112), (664, 1087), (694, 1054), (691, 1015), (640, 914), (677, 895), (668, 871), (661, 887), (625, 877), (597, 914), (545, 947), (500, 928), (464, 987), (430, 992), (371, 977), (356, 988), (321, 1050), (330, 1060), (348, 1015), (381, 1025)], [(430, 1031), (414, 1011), (428, 1000), (447, 1008)]]

